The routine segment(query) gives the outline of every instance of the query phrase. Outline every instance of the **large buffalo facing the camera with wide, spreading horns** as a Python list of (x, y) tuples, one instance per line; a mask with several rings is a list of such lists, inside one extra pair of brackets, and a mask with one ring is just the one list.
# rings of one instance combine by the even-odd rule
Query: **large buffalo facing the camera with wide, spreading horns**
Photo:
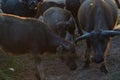
[(90, 61), (101, 63), (101, 71), (107, 73), (105, 64), (110, 37), (120, 34), (113, 30), (117, 23), (115, 3), (113, 0), (86, 0), (79, 9), (78, 18), (84, 35), (78, 37), (76, 42), (86, 39), (85, 66), (89, 66)]

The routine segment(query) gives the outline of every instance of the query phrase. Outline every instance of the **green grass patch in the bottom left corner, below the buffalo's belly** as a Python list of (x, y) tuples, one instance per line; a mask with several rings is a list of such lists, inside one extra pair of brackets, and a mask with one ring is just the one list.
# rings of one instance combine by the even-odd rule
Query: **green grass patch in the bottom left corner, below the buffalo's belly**
[[(13, 56), (0, 52), (0, 80), (15, 80), (22, 71), (33, 69), (31, 61), (31, 55)], [(9, 68), (14, 68), (15, 71)]]

